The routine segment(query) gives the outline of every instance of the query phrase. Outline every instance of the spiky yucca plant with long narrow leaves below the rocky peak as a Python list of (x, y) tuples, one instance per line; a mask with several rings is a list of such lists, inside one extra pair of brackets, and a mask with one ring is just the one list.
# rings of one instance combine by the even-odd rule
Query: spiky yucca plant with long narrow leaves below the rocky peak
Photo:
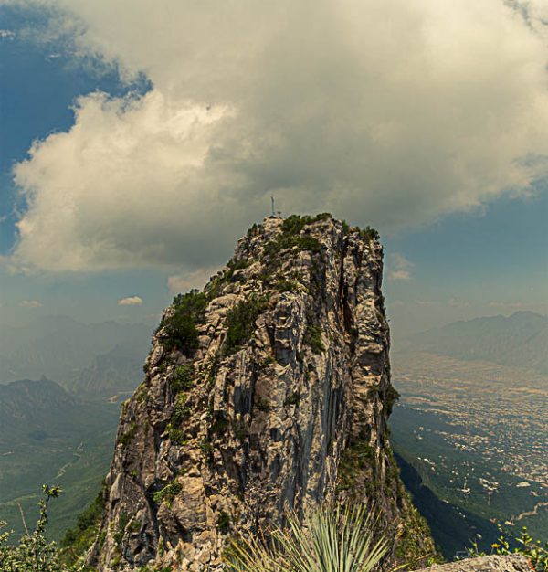
[(235, 572), (369, 572), (388, 548), (385, 539), (374, 543), (371, 529), (364, 506), (329, 506), (302, 523), (291, 514), (269, 543), (261, 536), (233, 543), (226, 564)]

